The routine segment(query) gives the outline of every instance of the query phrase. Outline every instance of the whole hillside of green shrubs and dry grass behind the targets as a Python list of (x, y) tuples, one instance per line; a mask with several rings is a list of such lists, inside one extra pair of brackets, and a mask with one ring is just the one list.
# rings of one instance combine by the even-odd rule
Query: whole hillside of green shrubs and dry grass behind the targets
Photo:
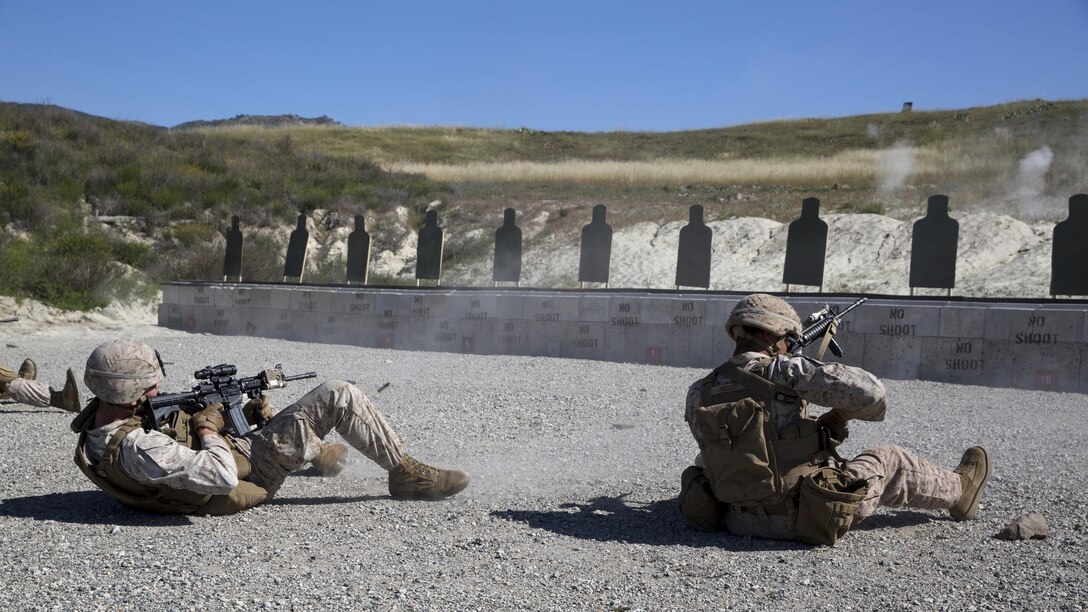
[[(540, 225), (532, 248), (577, 236), (594, 204), (615, 229), (685, 220), (693, 204), (708, 222), (784, 222), (809, 196), (821, 212), (910, 219), (935, 193), (953, 211), (1053, 220), (1088, 189), (1085, 100), (670, 133), (244, 118), (166, 128), (0, 102), (0, 294), (88, 308), (214, 279), (233, 215), (247, 236), (244, 277), (275, 280), (299, 213), (332, 242), (364, 215), (376, 256), (437, 208), (449, 268), (490, 255), (506, 207)], [(342, 248), (310, 264), (308, 281), (342, 281)]]

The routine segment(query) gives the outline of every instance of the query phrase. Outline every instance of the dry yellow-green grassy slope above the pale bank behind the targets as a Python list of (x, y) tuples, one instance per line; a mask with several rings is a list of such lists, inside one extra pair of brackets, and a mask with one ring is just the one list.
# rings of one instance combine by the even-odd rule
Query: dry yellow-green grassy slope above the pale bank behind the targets
[[(803, 197), (828, 211), (885, 209), (908, 218), (944, 193), (953, 206), (997, 207), (1019, 191), (1021, 161), (1043, 146), (1053, 164), (1042, 197), (1086, 191), (1085, 100), (1010, 102), (775, 121), (670, 133), (574, 133), (442, 126), (219, 127), (208, 137), (288, 139), (316, 155), (366, 158), (385, 170), (452, 185), (462, 210), (551, 200), (682, 218), (795, 215)], [(660, 208), (659, 208), (660, 207)], [(709, 210), (709, 208), (708, 208)], [(1056, 215), (1058, 212), (1055, 212)]]

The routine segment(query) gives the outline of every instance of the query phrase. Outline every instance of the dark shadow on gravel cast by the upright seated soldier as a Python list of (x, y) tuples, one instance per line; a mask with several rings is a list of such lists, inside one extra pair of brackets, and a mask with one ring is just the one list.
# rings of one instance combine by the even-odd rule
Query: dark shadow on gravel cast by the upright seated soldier
[(533, 529), (544, 529), (561, 536), (604, 542), (627, 542), (654, 546), (713, 547), (732, 551), (807, 550), (799, 542), (739, 538), (725, 531), (696, 531), (688, 526), (677, 500), (632, 502), (625, 498), (603, 495), (584, 503), (564, 503), (560, 510), (497, 510), (492, 516), (524, 523)]

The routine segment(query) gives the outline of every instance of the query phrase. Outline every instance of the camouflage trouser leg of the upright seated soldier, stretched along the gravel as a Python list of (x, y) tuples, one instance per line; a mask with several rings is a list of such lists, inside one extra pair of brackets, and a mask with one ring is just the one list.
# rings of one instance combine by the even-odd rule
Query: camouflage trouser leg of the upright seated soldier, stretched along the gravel
[(943, 510), (960, 499), (960, 475), (894, 445), (875, 446), (846, 462), (846, 474), (869, 484), (854, 514), (857, 521), (879, 506)]

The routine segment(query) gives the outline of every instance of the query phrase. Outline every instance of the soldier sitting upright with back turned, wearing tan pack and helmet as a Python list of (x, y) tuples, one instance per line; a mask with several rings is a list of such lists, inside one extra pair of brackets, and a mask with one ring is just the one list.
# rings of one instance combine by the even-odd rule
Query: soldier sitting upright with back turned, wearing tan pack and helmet
[[(954, 470), (895, 445), (838, 466), (851, 419), (883, 420), (885, 385), (868, 371), (788, 351), (802, 327), (783, 299), (753, 294), (726, 322), (732, 357), (688, 390), (684, 418), (698, 444), (681, 477), (680, 507), (698, 529), (831, 544), (879, 506), (978, 511), (990, 476), (981, 446)], [(829, 411), (814, 418), (809, 403)]]

